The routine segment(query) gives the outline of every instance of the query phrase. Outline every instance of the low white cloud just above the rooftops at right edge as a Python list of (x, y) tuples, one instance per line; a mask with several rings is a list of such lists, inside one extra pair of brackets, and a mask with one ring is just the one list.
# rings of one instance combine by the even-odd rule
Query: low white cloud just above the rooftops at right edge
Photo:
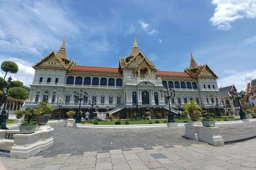
[[(219, 87), (225, 87), (234, 84), (239, 91), (245, 90), (246, 82), (249, 82), (249, 80), (256, 78), (256, 69), (250, 71), (232, 70), (229, 72), (229, 76), (218, 80)], [(234, 72), (234, 74), (232, 72)]]

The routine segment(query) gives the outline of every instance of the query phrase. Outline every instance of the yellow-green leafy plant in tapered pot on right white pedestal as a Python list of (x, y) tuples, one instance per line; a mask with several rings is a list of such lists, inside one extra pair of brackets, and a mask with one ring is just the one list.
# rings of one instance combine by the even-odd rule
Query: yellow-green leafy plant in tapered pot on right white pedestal
[(199, 119), (199, 114), (202, 111), (201, 106), (195, 104), (195, 100), (191, 101), (190, 103), (185, 103), (184, 108), (185, 111), (188, 112), (189, 117), (192, 121), (197, 121)]

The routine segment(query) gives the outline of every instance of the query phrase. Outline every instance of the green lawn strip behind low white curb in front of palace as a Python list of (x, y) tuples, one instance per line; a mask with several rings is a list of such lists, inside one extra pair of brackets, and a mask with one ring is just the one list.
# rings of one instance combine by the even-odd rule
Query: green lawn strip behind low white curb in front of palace
[[(224, 121), (224, 119), (227, 119), (227, 121), (231, 121), (231, 120), (239, 120), (238, 118), (212, 118), (214, 119), (216, 122), (220, 122), (220, 121)], [(155, 123), (155, 120), (157, 119), (153, 119), (153, 120), (129, 120), (129, 124), (130, 125), (145, 125), (148, 124), (149, 122), (152, 122), (153, 124), (157, 124)], [(158, 119), (159, 123), (158, 124), (166, 124), (167, 119)], [(199, 121), (201, 121), (202, 118), (199, 119)], [(165, 123), (163, 123), (165, 121)], [(175, 119), (176, 123), (187, 123), (190, 122), (191, 119)], [(121, 125), (125, 125), (124, 123), (126, 122), (126, 120), (121, 120)], [(83, 122), (82, 124), (85, 125), (93, 125), (90, 122)], [(103, 120), (101, 122), (99, 122), (99, 125), (115, 125), (115, 120), (110, 121), (110, 120)]]

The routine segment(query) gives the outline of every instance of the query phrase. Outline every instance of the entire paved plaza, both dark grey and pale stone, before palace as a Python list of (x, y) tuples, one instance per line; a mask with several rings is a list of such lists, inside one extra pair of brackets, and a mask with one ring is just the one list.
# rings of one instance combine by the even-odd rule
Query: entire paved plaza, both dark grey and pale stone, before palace
[[(214, 147), (179, 129), (55, 129), (54, 145), (28, 159), (0, 157), (6, 169), (255, 169), (256, 139)], [(225, 142), (256, 136), (256, 121), (218, 124)], [(237, 134), (237, 135), (236, 135)], [(1, 169), (1, 168), (0, 168)]]

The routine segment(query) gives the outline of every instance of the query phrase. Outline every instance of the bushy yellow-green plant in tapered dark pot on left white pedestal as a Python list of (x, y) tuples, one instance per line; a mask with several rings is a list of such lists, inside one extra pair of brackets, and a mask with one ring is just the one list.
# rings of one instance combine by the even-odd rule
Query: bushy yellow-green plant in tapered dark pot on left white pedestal
[(37, 124), (39, 126), (46, 125), (52, 112), (55, 109), (56, 108), (54, 108), (50, 104), (48, 104), (47, 101), (40, 102), (39, 107), (38, 107), (38, 115), (35, 117)]

